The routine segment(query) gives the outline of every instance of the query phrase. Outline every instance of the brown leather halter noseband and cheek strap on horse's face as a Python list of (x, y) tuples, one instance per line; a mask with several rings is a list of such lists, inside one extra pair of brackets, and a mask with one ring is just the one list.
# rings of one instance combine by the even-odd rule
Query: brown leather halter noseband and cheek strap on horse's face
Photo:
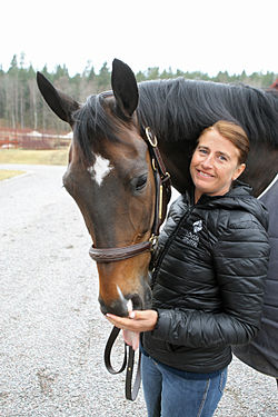
[(171, 198), (171, 182), (170, 175), (166, 171), (165, 163), (158, 150), (156, 136), (151, 132), (149, 127), (147, 127), (145, 131), (156, 183), (155, 219), (151, 228), (151, 236), (148, 241), (142, 241), (140, 244), (121, 248), (96, 248), (92, 245), (89, 250), (89, 255), (97, 262), (113, 262), (123, 260), (146, 251), (152, 251), (156, 248), (159, 227), (162, 219), (162, 193), (165, 189), (167, 200), (169, 202)]

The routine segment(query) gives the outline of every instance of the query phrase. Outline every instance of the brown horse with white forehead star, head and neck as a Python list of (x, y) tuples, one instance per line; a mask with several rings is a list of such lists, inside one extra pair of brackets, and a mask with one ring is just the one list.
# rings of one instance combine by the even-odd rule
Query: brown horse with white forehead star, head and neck
[[(52, 111), (73, 130), (63, 185), (92, 238), (103, 314), (127, 316), (130, 302), (133, 309), (150, 305), (152, 246), (146, 242), (151, 238), (157, 191), (148, 140), (158, 141), (166, 171), (181, 193), (190, 186), (189, 163), (197, 138), (220, 119), (239, 123), (250, 139), (242, 180), (256, 197), (278, 172), (274, 91), (183, 78), (137, 83), (129, 66), (118, 59), (112, 62), (111, 91), (92, 95), (82, 105), (40, 72), (37, 82)], [(162, 198), (160, 224), (167, 200)], [(145, 244), (150, 250), (115, 256), (116, 249), (127, 251)]]

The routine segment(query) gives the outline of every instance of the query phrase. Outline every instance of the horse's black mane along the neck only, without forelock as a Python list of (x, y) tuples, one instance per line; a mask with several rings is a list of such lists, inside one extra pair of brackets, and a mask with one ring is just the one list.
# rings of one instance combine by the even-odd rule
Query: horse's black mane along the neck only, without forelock
[(195, 141), (218, 120), (241, 125), (251, 142), (278, 147), (278, 95), (245, 85), (175, 80), (139, 83), (141, 127), (150, 126), (165, 140)]

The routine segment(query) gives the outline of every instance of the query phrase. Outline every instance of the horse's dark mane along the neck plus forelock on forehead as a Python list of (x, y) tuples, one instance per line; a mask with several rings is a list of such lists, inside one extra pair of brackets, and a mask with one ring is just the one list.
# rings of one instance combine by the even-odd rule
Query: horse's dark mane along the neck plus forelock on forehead
[[(251, 142), (278, 147), (278, 93), (274, 90), (183, 78), (142, 81), (138, 88), (141, 131), (150, 126), (167, 141), (195, 141), (205, 128), (222, 119), (241, 125)], [(111, 93), (88, 97), (73, 115), (75, 138), (89, 161), (91, 148), (103, 137), (118, 141), (120, 122), (128, 122), (105, 100), (107, 96)]]

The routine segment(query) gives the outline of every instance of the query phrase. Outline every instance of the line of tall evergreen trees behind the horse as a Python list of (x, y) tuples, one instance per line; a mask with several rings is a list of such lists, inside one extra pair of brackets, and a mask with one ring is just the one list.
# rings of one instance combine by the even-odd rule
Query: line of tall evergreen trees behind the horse
[[(109, 90), (111, 72), (105, 62), (99, 72), (96, 73), (93, 64), (88, 61), (82, 73), (70, 77), (66, 64), (57, 64), (51, 72), (47, 66), (40, 70), (58, 89), (67, 92), (79, 102), (92, 93)], [(138, 82), (155, 79), (169, 79), (185, 77), (193, 80), (207, 80), (227, 83), (245, 83), (257, 88), (267, 89), (277, 79), (275, 72), (254, 72), (247, 75), (229, 75), (227, 71), (218, 72), (209, 77), (207, 73), (195, 71), (183, 72), (171, 68), (160, 71), (159, 67), (148, 68), (136, 73)], [(10, 68), (3, 71), (0, 64), (0, 128), (33, 129), (62, 133), (69, 131), (67, 123), (54, 118), (52, 112), (44, 106), (37, 87), (36, 70), (32, 64), (26, 66), (24, 54), (20, 58), (14, 54)]]

